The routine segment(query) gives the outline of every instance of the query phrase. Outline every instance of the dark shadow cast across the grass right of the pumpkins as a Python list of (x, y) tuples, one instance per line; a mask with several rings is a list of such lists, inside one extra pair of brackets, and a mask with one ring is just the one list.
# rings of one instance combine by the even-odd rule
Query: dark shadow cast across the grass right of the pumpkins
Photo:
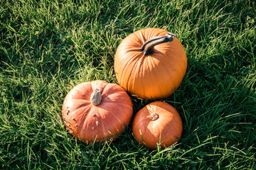
[[(249, 140), (245, 134), (253, 128), (250, 123), (256, 122), (252, 116), (256, 111), (255, 68), (233, 69), (223, 63), (228, 59), (220, 60), (220, 57), (202, 60), (188, 56), (188, 69), (180, 92), (166, 98), (166, 101), (174, 101), (181, 113), (182, 148), (198, 143), (198, 139), (207, 141), (210, 136), (213, 142), (228, 140), (229, 145)], [(234, 129), (241, 133), (233, 132)]]

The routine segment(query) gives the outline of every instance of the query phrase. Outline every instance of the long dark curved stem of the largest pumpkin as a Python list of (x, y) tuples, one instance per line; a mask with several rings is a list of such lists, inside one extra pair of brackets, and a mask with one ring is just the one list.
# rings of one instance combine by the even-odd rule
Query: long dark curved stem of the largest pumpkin
[(175, 37), (176, 35), (173, 33), (166, 33), (165, 36), (156, 36), (154, 38), (150, 38), (149, 40), (146, 40), (146, 42), (144, 42), (144, 45), (142, 45), (142, 48), (140, 50), (144, 52), (144, 55), (151, 55), (154, 53), (154, 46), (164, 42), (172, 42)]

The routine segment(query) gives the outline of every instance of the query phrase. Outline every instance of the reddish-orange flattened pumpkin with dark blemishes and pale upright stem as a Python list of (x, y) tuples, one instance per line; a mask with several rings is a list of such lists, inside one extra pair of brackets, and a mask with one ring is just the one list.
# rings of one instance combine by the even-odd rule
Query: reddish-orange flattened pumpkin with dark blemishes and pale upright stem
[(132, 101), (117, 84), (97, 80), (78, 84), (65, 96), (65, 127), (82, 142), (116, 140), (132, 119)]

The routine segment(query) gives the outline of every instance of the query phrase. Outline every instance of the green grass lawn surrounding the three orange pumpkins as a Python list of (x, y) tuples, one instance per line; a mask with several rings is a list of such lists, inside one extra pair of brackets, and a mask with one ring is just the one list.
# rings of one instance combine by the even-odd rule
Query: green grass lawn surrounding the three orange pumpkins
[[(254, 1), (3, 0), (0, 169), (256, 169)], [(60, 121), (84, 81), (117, 83), (114, 52), (142, 28), (176, 33), (186, 77), (165, 101), (183, 120), (178, 145), (151, 151), (129, 125), (86, 145)], [(132, 98), (134, 114), (150, 101)]]

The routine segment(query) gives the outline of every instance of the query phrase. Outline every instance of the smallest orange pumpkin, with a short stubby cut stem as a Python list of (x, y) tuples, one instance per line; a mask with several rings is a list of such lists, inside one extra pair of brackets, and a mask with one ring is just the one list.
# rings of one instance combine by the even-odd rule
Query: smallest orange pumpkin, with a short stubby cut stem
[(173, 106), (155, 101), (136, 113), (132, 133), (140, 144), (149, 149), (155, 149), (157, 145), (169, 147), (181, 138), (181, 117)]

